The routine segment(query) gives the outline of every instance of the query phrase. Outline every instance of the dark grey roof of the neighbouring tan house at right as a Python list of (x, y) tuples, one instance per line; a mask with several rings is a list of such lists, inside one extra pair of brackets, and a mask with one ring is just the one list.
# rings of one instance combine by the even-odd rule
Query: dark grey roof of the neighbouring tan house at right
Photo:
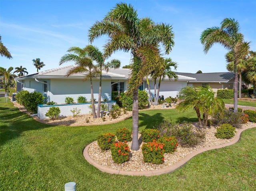
[(233, 82), (232, 72), (219, 72), (219, 73), (180, 73), (178, 75), (184, 75), (192, 78), (196, 78), (196, 82)]

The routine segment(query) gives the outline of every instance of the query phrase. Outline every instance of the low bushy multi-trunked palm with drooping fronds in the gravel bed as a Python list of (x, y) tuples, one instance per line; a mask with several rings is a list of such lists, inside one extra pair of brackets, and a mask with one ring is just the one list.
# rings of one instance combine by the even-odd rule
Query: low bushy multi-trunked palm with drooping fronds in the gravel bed
[[(179, 98), (183, 101), (180, 102), (176, 109), (186, 111), (193, 107), (196, 111), (200, 126), (206, 127), (208, 116), (214, 111), (220, 112), (224, 109), (224, 102), (220, 98), (214, 97), (215, 92), (212, 91), (210, 86), (206, 87), (189, 87), (186, 86), (179, 91)], [(201, 113), (203, 122), (201, 121)]]

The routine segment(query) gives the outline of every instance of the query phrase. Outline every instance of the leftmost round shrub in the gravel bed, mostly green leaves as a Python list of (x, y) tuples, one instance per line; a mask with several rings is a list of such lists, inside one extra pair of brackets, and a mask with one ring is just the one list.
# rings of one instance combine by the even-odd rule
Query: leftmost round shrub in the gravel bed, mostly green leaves
[(116, 142), (116, 136), (111, 133), (100, 134), (97, 138), (98, 146), (101, 150), (108, 150)]

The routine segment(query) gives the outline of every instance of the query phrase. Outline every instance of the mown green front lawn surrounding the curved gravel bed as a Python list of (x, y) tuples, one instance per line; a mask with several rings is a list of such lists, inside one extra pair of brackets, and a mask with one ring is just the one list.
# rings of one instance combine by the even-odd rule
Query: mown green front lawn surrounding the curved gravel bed
[[(0, 101), (0, 190), (59, 191), (70, 181), (77, 191), (255, 190), (256, 128), (243, 132), (238, 143), (199, 154), (170, 174), (112, 175), (90, 165), (82, 151), (100, 133), (132, 128), (131, 118), (101, 126), (49, 126)], [(140, 130), (170, 117), (196, 121), (192, 110), (148, 110), (140, 112)]]

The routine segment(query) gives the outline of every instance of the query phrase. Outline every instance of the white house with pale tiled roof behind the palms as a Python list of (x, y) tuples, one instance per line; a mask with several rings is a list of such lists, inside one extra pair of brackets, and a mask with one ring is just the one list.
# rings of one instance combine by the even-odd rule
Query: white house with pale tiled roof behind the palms
[[(29, 92), (37, 91), (46, 97), (46, 102), (54, 101), (58, 104), (65, 103), (66, 97), (74, 98), (82, 95), (91, 99), (90, 81), (83, 81), (85, 73), (74, 74), (66, 77), (66, 73), (73, 65), (59, 67), (25, 75), (15, 78), (17, 81), (17, 91), (27, 90)], [(130, 69), (111, 69), (108, 73), (102, 72), (102, 100), (112, 100), (112, 91), (117, 91), (119, 94), (128, 90)], [(154, 96), (154, 81), (150, 79), (151, 94)], [(161, 82), (160, 96), (164, 98), (168, 96), (176, 97), (178, 91), (187, 85), (187, 82), (196, 81), (196, 78), (178, 74), (178, 80), (174, 81), (165, 79)], [(94, 98), (98, 100), (99, 78), (93, 78)], [(158, 84), (157, 84), (158, 85)], [(148, 91), (146, 79), (139, 88), (140, 90)]]

